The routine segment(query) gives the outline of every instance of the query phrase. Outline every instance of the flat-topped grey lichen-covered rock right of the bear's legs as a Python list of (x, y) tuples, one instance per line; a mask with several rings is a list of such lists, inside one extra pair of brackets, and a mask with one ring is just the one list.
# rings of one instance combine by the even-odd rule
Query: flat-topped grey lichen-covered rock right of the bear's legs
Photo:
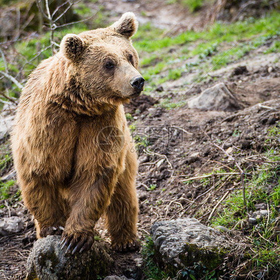
[(233, 246), (218, 230), (194, 218), (155, 222), (151, 234), (156, 261), (169, 270), (191, 267), (194, 263), (213, 270)]

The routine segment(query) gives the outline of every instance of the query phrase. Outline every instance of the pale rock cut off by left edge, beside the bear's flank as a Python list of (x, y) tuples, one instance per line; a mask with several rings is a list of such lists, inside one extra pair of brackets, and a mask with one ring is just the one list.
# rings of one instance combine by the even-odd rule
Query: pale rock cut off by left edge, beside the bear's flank
[(0, 113), (0, 140), (7, 136), (11, 130), (15, 108), (14, 104), (5, 104)]

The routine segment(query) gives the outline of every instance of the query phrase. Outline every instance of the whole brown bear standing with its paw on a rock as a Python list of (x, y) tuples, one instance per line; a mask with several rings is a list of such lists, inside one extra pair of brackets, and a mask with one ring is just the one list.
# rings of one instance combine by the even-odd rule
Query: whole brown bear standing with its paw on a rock
[(144, 86), (130, 39), (137, 28), (127, 12), (107, 28), (67, 34), (20, 96), (11, 147), (23, 201), (37, 237), (63, 230), (72, 253), (91, 248), (102, 214), (114, 250), (140, 245), (138, 163), (123, 107)]

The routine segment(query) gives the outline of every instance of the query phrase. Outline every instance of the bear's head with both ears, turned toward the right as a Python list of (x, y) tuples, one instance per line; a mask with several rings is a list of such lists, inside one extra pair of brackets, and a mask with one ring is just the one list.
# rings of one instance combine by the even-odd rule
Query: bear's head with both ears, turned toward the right
[(140, 95), (144, 79), (131, 37), (138, 28), (127, 12), (107, 28), (67, 34), (60, 53), (70, 61), (71, 75), (80, 87), (101, 103), (125, 103)]

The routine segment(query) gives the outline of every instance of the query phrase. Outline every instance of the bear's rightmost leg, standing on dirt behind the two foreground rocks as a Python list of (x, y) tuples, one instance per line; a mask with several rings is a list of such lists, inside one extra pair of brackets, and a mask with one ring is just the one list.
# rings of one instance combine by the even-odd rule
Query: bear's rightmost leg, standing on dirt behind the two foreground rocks
[(119, 252), (140, 247), (136, 227), (139, 211), (135, 187), (137, 168), (136, 153), (128, 151), (126, 169), (118, 178), (111, 204), (106, 211), (112, 248)]

